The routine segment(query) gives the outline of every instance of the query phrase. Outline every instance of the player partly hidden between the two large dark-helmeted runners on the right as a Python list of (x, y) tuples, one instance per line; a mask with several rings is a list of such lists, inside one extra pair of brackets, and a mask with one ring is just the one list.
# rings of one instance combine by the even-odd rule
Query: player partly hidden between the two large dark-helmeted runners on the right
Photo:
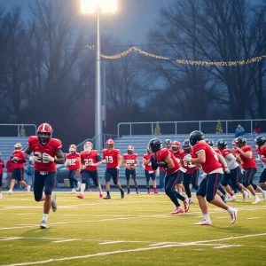
[(180, 161), (183, 167), (186, 169), (186, 172), (184, 173), (184, 176), (183, 176), (184, 189), (185, 189), (186, 195), (188, 196), (190, 200), (190, 204), (192, 204), (193, 200), (192, 200), (192, 192), (191, 192), (190, 184), (192, 184), (192, 187), (197, 192), (199, 189), (199, 184), (198, 184), (199, 168), (196, 165), (192, 164), (191, 162), (183, 160), (186, 154), (191, 154), (192, 157), (195, 157), (193, 154), (192, 145), (190, 144), (189, 139), (184, 140), (183, 151), (184, 151), (183, 153), (180, 153)]

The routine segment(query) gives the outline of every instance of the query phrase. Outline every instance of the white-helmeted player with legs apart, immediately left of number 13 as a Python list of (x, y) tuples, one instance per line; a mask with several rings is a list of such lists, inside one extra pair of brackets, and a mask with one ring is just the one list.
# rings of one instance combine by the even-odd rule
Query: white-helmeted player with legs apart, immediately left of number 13
[(101, 157), (98, 155), (97, 150), (92, 150), (92, 143), (90, 141), (84, 144), (84, 151), (81, 153), (81, 166), (82, 171), (82, 188), (81, 194), (77, 197), (84, 198), (84, 191), (89, 178), (92, 179), (93, 184), (98, 188), (99, 198), (103, 199), (102, 187), (98, 183), (98, 166), (102, 164)]

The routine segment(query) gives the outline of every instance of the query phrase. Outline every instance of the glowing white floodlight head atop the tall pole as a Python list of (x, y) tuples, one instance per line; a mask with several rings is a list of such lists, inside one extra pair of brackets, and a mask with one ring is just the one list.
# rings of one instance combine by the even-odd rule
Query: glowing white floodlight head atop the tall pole
[(101, 12), (116, 12), (116, 0), (81, 0), (82, 13), (94, 13), (97, 9)]

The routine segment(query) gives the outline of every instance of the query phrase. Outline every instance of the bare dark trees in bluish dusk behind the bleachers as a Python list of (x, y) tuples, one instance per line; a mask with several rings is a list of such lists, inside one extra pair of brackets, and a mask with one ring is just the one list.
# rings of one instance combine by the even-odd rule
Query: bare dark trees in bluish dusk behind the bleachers
[[(47, 121), (66, 144), (94, 136), (95, 52), (84, 47), (96, 43), (95, 35), (78, 29), (58, 1), (35, 1), (29, 20), (18, 6), (0, 7), (0, 123)], [(176, 0), (159, 11), (147, 40), (144, 50), (173, 60), (136, 53), (106, 60), (106, 133), (116, 133), (121, 121), (266, 117), (265, 60), (244, 66), (174, 60), (266, 54), (265, 0)], [(102, 35), (102, 52), (119, 53), (122, 42)]]

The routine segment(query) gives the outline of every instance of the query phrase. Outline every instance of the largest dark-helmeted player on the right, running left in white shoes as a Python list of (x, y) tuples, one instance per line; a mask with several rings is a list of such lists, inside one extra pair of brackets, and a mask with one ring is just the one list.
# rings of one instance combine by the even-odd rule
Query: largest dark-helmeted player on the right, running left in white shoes
[(203, 214), (203, 220), (195, 224), (212, 224), (207, 211), (207, 202), (227, 210), (231, 215), (231, 224), (236, 223), (238, 209), (229, 207), (220, 199), (215, 199), (218, 185), (223, 179), (223, 168), (221, 167), (216, 153), (204, 141), (204, 135), (201, 131), (193, 131), (190, 134), (189, 140), (193, 146), (193, 153), (197, 158), (192, 158), (191, 154), (187, 154), (184, 156), (184, 160), (190, 161), (192, 164), (200, 163), (202, 170), (207, 174), (207, 176), (200, 182), (199, 190), (196, 193)]

